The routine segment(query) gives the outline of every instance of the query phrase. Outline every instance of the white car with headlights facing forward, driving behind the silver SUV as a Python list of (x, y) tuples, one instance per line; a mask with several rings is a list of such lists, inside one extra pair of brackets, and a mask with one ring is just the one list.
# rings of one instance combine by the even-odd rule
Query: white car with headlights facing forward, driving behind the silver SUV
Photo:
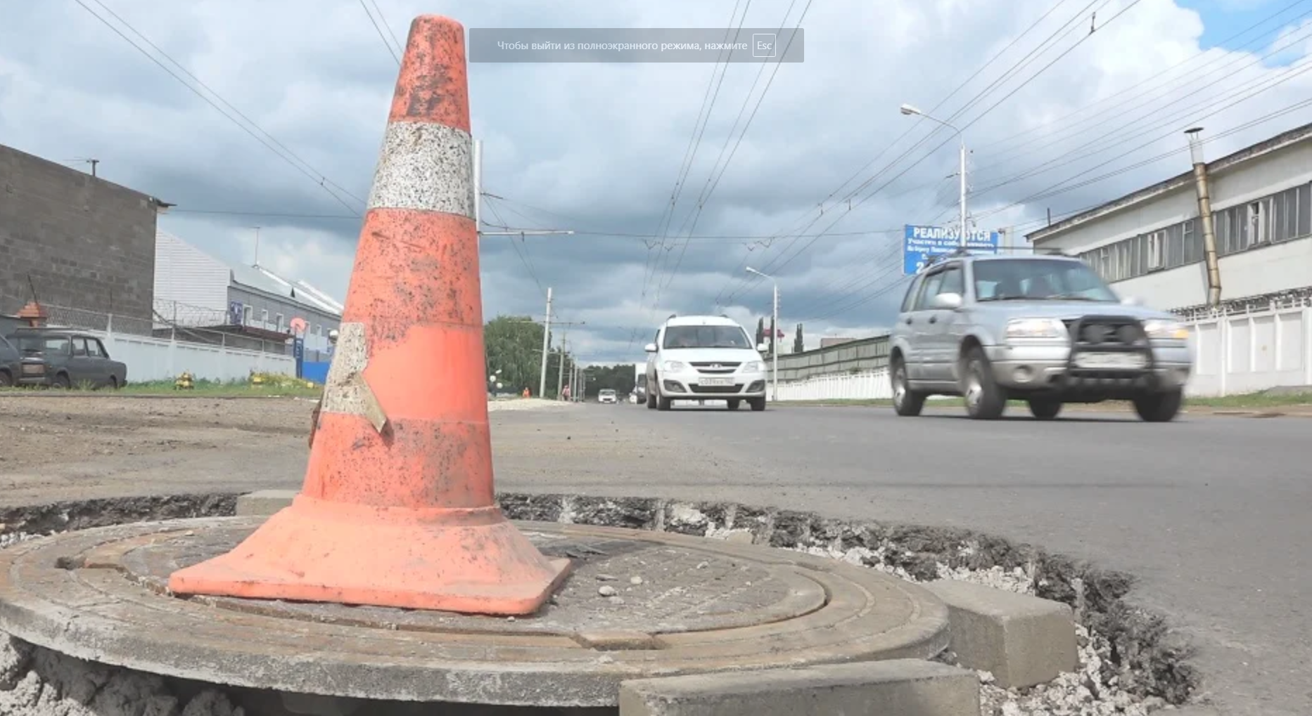
[(669, 410), (674, 400), (745, 400), (765, 409), (764, 346), (753, 346), (727, 316), (670, 316), (647, 344), (647, 407)]

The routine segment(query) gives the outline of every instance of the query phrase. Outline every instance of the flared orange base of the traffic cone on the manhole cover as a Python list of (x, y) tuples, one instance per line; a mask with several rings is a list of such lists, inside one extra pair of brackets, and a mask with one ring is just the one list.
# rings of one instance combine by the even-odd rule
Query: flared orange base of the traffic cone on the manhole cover
[(497, 507), (409, 510), (298, 496), (231, 552), (169, 576), (174, 594), (529, 615), (569, 574)]

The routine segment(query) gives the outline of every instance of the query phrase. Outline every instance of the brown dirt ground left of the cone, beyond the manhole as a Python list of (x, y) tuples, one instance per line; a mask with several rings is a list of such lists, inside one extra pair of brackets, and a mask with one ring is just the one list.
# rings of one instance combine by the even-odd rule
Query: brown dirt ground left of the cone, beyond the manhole
[(299, 399), (4, 396), (0, 504), (298, 487), (312, 408)]

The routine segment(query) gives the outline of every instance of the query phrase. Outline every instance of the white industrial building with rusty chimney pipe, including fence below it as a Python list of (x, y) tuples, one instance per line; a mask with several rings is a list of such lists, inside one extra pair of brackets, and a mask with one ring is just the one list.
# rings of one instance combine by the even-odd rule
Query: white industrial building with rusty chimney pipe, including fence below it
[(1212, 161), (1198, 139), (1191, 130), (1194, 169), (1026, 239), (1080, 256), (1122, 296), (1187, 319), (1195, 395), (1312, 384), (1312, 125)]

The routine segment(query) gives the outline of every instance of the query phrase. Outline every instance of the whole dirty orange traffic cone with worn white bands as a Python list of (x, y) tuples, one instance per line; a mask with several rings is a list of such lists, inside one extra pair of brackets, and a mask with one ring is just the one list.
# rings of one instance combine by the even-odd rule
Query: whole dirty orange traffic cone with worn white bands
[(411, 25), (300, 494), (176, 594), (522, 615), (568, 572), (496, 506), (464, 28)]

